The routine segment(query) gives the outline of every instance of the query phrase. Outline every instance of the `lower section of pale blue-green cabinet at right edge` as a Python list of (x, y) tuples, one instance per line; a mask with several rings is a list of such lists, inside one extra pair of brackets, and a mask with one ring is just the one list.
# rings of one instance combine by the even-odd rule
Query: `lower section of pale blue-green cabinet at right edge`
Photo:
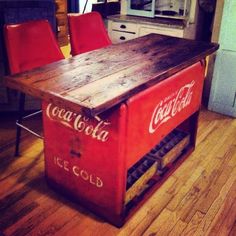
[(217, 54), (209, 109), (236, 116), (236, 53), (222, 50)]

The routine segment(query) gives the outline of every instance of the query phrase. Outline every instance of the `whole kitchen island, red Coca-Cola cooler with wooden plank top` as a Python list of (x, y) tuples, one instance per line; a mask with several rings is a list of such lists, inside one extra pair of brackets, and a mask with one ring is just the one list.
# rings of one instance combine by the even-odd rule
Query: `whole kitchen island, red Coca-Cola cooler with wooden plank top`
[[(193, 151), (203, 59), (217, 47), (152, 34), (8, 77), (8, 86), (17, 80), (15, 88), (43, 99), (50, 186), (123, 225)], [(98, 70), (83, 71), (91, 65)]]

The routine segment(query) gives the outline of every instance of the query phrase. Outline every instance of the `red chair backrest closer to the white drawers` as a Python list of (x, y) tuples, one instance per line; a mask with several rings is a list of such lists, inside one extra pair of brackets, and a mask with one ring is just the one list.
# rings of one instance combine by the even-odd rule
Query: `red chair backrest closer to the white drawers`
[(72, 56), (111, 44), (98, 12), (68, 14), (68, 23)]

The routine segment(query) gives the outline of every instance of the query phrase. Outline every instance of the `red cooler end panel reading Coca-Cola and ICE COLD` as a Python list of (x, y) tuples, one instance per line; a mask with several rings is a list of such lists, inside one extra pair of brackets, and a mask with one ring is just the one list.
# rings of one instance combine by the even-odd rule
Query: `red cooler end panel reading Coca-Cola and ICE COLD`
[(100, 121), (47, 103), (43, 115), (47, 178), (105, 212), (121, 214), (126, 106)]

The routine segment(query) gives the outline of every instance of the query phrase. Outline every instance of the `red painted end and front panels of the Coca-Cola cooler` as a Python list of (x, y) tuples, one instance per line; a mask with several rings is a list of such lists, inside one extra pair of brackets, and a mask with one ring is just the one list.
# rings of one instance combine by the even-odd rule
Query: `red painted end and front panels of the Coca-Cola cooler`
[(47, 178), (106, 218), (119, 219), (127, 169), (199, 109), (203, 80), (204, 68), (197, 63), (100, 120), (44, 102)]

